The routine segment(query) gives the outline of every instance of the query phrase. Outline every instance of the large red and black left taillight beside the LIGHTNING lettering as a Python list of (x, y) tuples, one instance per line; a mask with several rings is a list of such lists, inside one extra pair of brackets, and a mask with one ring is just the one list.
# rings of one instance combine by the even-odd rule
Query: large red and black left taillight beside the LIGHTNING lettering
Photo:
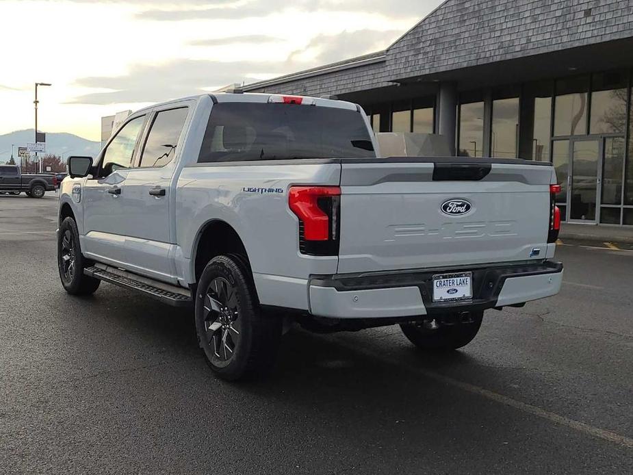
[(341, 188), (293, 186), (288, 204), (299, 218), (299, 250), (309, 255), (338, 255)]

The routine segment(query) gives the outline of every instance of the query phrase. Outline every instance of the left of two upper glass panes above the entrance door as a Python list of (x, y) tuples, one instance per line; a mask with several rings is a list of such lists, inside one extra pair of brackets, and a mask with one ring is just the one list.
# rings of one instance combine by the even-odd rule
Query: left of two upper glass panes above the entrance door
[(554, 135), (578, 136), (587, 132), (589, 77), (556, 81)]

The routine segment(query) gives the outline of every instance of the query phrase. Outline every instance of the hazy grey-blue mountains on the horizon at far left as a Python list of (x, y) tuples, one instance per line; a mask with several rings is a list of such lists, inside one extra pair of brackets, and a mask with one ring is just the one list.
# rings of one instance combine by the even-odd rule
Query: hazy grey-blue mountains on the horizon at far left
[[(13, 155), (18, 157), (18, 146), (27, 146), (27, 143), (34, 142), (34, 129), (18, 130), (15, 132), (0, 135), (0, 163), (7, 162), (11, 157), (11, 144), (14, 144)], [(96, 157), (101, 150), (101, 142), (93, 142), (73, 133), (47, 133), (46, 134), (46, 153), (53, 155), (62, 155), (64, 153), (64, 161), (70, 155), (88, 155)]]

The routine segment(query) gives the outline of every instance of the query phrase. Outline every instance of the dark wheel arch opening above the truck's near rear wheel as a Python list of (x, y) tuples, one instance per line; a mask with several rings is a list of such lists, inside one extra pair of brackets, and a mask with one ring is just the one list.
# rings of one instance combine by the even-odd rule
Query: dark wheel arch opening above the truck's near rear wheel
[(242, 264), (246, 267), (252, 279), (253, 270), (244, 241), (235, 228), (224, 220), (209, 220), (196, 233), (192, 254), (192, 275), (198, 282), (207, 263), (218, 255), (233, 254), (242, 257)]

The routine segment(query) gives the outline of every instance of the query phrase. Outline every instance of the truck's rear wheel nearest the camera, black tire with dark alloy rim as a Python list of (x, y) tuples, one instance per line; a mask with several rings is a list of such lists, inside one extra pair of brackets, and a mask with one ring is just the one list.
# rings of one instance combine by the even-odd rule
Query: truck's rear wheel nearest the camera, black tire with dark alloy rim
[(196, 291), (198, 344), (211, 370), (227, 381), (270, 371), (281, 339), (281, 319), (262, 315), (244, 262), (214, 257)]

